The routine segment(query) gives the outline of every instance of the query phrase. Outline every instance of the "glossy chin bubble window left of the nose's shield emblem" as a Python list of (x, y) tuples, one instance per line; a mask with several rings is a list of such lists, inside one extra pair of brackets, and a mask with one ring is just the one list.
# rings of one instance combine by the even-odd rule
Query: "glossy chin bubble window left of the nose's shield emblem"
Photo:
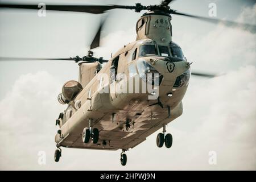
[(163, 80), (163, 75), (159, 73), (154, 67), (152, 67), (145, 60), (139, 59), (137, 61), (137, 68), (139, 76), (143, 81), (152, 85), (160, 85)]

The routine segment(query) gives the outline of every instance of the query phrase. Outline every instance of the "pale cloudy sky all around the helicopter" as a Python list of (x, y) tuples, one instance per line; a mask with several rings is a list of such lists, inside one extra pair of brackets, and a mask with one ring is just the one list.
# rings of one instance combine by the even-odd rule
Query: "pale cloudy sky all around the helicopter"
[[(72, 1), (119, 5), (136, 2)], [(141, 1), (144, 5), (158, 2)], [(176, 0), (172, 9), (208, 16), (212, 2), (217, 5), (217, 18), (256, 24), (254, 1)], [(109, 11), (101, 47), (94, 49), (96, 56), (109, 59), (112, 52), (135, 40), (139, 16), (131, 10)], [(46, 17), (39, 18), (32, 10), (0, 10), (0, 57), (86, 55), (100, 18), (48, 11)], [(65, 81), (77, 80), (77, 64), (1, 61), (0, 169), (256, 170), (256, 35), (242, 28), (175, 15), (172, 27), (173, 40), (183, 48), (188, 61), (193, 61), (192, 71), (224, 74), (211, 79), (191, 78), (183, 115), (167, 126), (174, 137), (170, 149), (156, 147), (159, 130), (126, 152), (125, 167), (119, 162), (121, 151), (63, 148), (63, 157), (55, 163), (55, 119), (65, 109), (56, 98)], [(38, 163), (40, 151), (46, 154), (46, 164)], [(216, 164), (209, 164), (211, 151), (216, 154)]]

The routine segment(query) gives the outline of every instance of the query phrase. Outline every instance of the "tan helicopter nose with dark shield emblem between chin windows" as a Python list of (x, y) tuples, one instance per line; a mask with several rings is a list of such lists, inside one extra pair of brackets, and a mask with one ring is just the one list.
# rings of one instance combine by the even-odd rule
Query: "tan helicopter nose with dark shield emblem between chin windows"
[[(190, 65), (186, 60), (163, 56), (146, 56), (137, 60), (137, 68), (139, 76), (144, 78), (144, 81), (148, 80), (152, 84), (154, 82), (154, 88), (158, 90), (157, 97), (161, 97), (162, 100), (164, 98), (168, 100), (171, 97), (168, 96), (168, 93), (172, 94), (172, 89), (183, 89), (186, 88), (183, 86), (188, 85)], [(148, 73), (152, 74), (148, 75)], [(156, 92), (153, 91), (152, 93)]]

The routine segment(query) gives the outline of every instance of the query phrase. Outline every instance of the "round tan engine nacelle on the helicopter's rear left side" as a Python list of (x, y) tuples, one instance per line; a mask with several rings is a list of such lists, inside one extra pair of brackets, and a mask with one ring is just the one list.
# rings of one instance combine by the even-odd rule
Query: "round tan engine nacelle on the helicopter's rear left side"
[(58, 96), (60, 104), (68, 104), (72, 101), (79, 92), (82, 90), (82, 85), (75, 81), (67, 81), (62, 87), (62, 92)]

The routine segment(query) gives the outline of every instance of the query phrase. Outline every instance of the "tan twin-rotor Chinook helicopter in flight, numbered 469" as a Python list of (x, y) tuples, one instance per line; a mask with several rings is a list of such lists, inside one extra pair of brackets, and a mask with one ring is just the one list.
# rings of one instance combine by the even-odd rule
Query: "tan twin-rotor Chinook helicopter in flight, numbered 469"
[[(93, 57), (93, 52), (84, 57), (67, 59), (79, 62), (79, 80), (68, 81), (58, 96), (60, 104), (67, 109), (59, 114), (56, 125), (60, 129), (55, 136), (57, 149), (55, 162), (59, 162), (61, 148), (88, 148), (95, 150), (121, 149), (121, 164), (126, 165), (125, 151), (142, 143), (155, 131), (163, 128), (156, 138), (158, 147), (172, 146), (172, 135), (166, 134), (166, 125), (183, 113), (182, 99), (191, 76), (191, 63), (184, 57), (181, 48), (172, 42), (171, 14), (183, 15), (227, 26), (253, 27), (201, 16), (178, 13), (170, 9), (172, 0), (160, 5), (47, 5), (46, 10), (74, 11), (102, 14), (112, 9), (146, 10), (136, 24), (137, 39), (116, 52), (110, 60)], [(0, 3), (0, 7), (14, 9), (39, 9), (37, 5)], [(90, 48), (100, 45), (100, 24)], [(36, 58), (3, 58), (36, 60)], [(102, 63), (105, 63), (102, 67)], [(148, 73), (151, 73), (148, 74)], [(214, 77), (203, 73), (196, 76)], [(135, 81), (134, 81), (135, 80)], [(137, 80), (137, 81), (136, 81)], [(146, 89), (143, 83), (150, 85)], [(121, 85), (121, 86), (120, 86)], [(139, 86), (138, 86), (139, 85)], [(126, 87), (131, 92), (118, 92)], [(136, 92), (137, 87), (137, 92)], [(105, 91), (105, 92), (102, 92)], [(150, 99), (150, 96), (154, 99)]]

